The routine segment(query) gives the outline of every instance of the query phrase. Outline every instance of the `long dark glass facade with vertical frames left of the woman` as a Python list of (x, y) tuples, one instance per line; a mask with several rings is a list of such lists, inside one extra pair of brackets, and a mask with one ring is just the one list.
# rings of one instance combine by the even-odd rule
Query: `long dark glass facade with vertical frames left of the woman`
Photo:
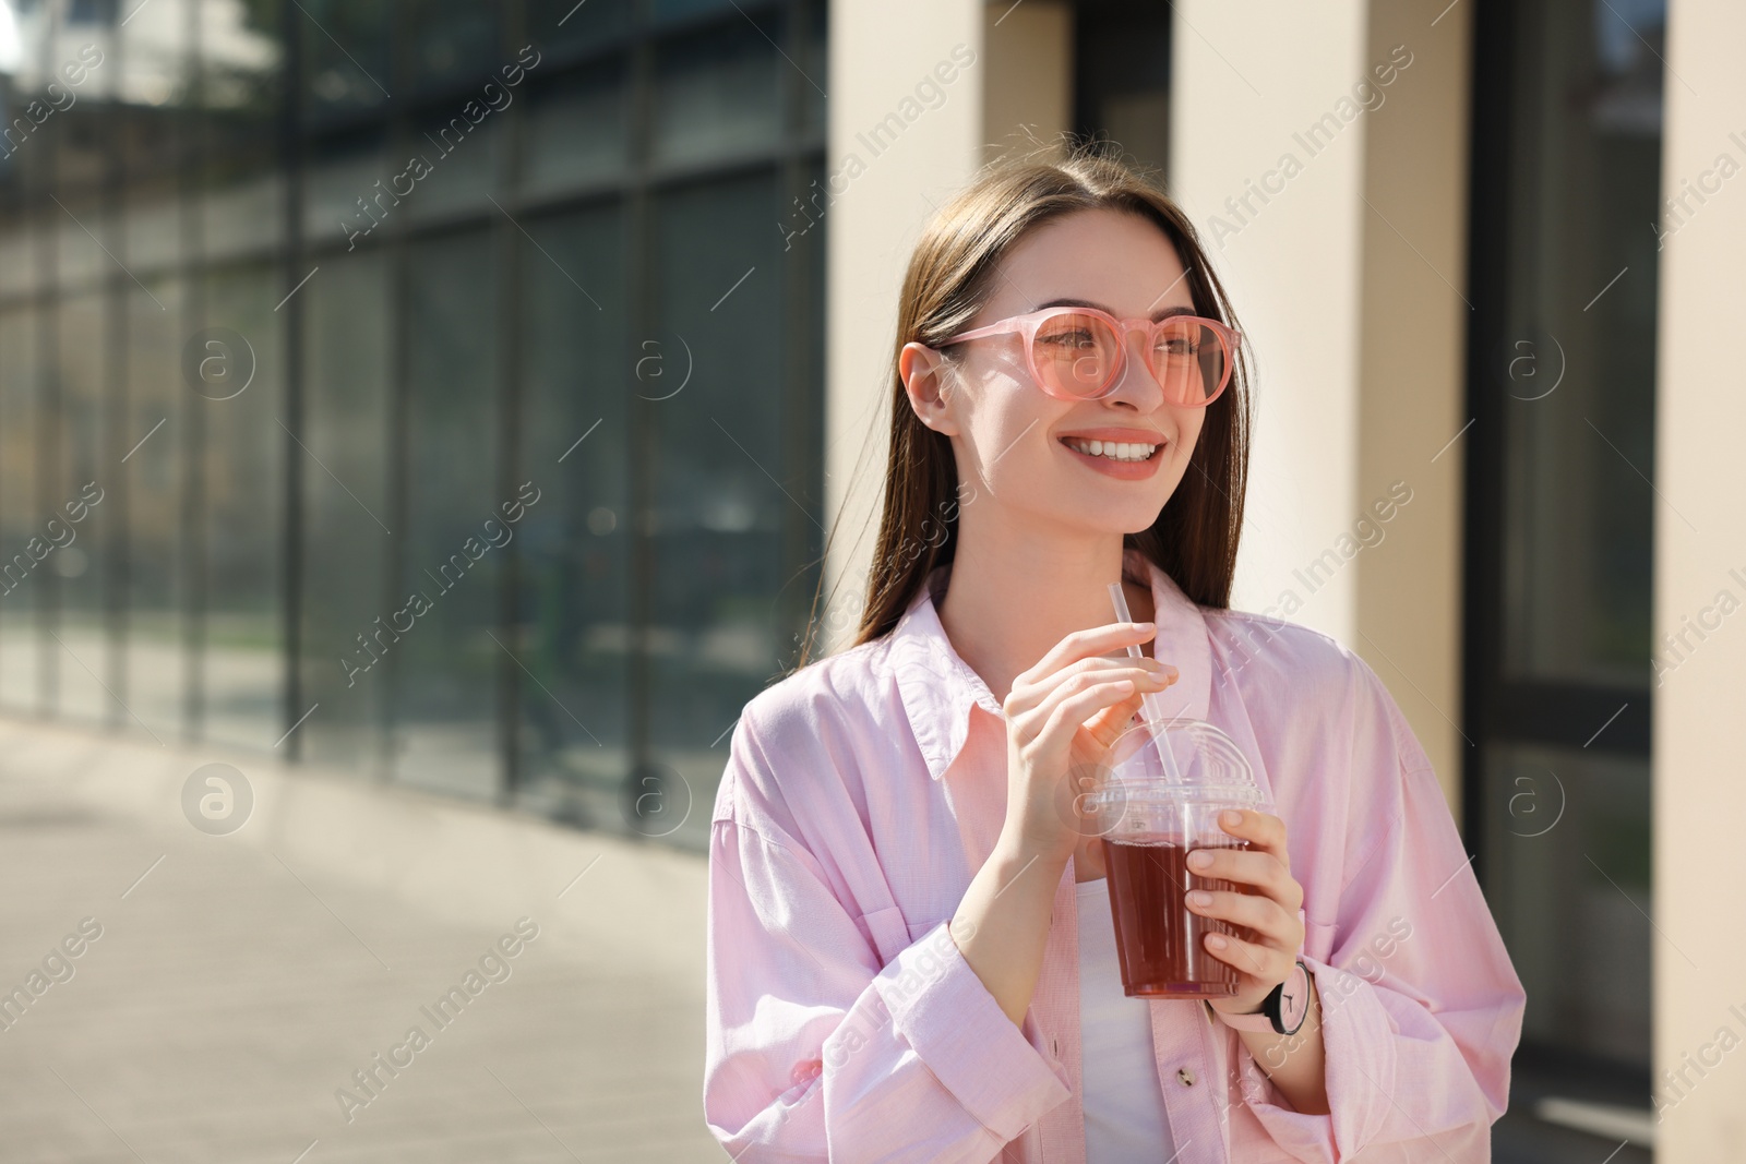
[(264, 754), (314, 709), (276, 754), (601, 827), (670, 764), (698, 845), (819, 550), (824, 237), (775, 225), (826, 3), (14, 9), (0, 99), (103, 59), (0, 150), (0, 550), (127, 508), (0, 595), (0, 703)]

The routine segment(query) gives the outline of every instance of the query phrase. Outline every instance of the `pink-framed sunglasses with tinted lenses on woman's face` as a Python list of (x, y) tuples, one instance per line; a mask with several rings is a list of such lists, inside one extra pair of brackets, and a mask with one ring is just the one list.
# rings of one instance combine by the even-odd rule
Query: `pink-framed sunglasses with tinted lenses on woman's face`
[(939, 344), (1016, 332), (1025, 342), (1030, 375), (1058, 400), (1100, 400), (1121, 382), (1128, 333), (1142, 332), (1145, 368), (1173, 405), (1210, 405), (1231, 382), (1240, 333), (1203, 316), (1117, 319), (1096, 307), (1044, 307), (985, 328), (960, 332)]

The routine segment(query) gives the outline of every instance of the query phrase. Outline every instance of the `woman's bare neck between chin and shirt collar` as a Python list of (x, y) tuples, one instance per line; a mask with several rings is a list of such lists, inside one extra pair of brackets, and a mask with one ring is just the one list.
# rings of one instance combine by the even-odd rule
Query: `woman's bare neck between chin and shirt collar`
[[(995, 700), (1062, 639), (1116, 621), (1109, 583), (1121, 579), (1121, 534), (990, 529), (960, 522), (939, 623)], [(1149, 585), (1123, 579), (1135, 621), (1152, 618)], [(1151, 654), (1151, 644), (1140, 647)]]

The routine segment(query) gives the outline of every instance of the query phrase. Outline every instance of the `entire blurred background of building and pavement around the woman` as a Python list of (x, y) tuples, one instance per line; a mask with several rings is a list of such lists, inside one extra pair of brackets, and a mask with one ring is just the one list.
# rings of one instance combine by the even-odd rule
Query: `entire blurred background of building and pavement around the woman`
[[(0, 986), (108, 923), (0, 1009), (0, 1159), (718, 1159), (726, 738), (821, 581), (854, 625), (908, 248), (1060, 133), (1166, 183), (1259, 354), (1234, 606), (1365, 656), (1437, 764), (1529, 995), (1496, 1159), (1723, 1159), (1743, 951), (1657, 838), (1736, 796), (1741, 35), (0, 0)], [(522, 914), (496, 1019), (356, 1082)]]

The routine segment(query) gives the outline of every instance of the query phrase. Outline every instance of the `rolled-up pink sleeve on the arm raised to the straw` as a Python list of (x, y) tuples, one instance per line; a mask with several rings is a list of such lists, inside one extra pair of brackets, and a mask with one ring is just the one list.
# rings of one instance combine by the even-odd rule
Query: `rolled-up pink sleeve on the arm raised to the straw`
[(819, 860), (732, 801), (709, 852), (704, 1115), (733, 1159), (983, 1162), (1069, 1098), (946, 923), (880, 965)]

